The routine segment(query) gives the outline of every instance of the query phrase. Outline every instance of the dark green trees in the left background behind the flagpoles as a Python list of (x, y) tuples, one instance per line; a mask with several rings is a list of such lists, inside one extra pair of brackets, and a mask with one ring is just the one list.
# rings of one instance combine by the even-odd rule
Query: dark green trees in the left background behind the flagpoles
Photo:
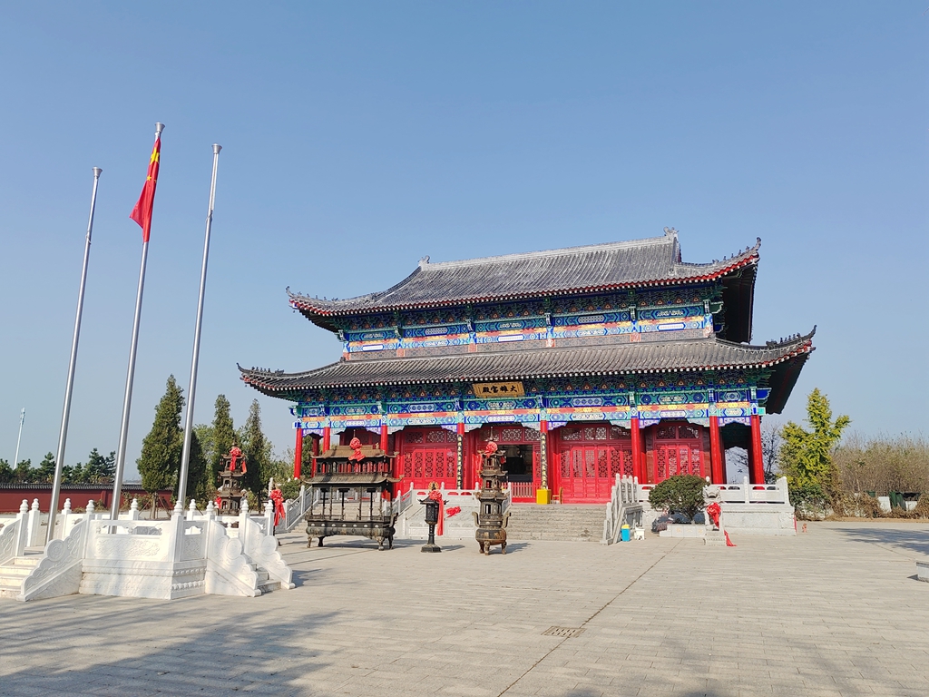
[[(154, 422), (142, 441), (142, 451), (136, 461), (142, 488), (146, 492), (170, 490), (177, 496), (184, 449), (184, 430), (181, 427), (184, 403), (184, 390), (171, 375), (167, 379), (164, 396), (155, 406)], [(248, 472), (243, 486), (252, 493), (250, 504), (258, 504), (269, 478), (283, 482), (293, 477), (292, 458), (288, 459), (290, 453), (285, 453), (283, 459), (275, 457), (273, 446), (261, 428), (261, 407), (258, 401), (252, 401), (245, 423), (239, 428), (232, 422), (229, 407), (226, 396), (219, 395), (216, 397), (213, 422), (193, 428), (187, 494), (200, 507), (216, 495), (216, 473), (222, 468), (222, 456), (229, 454), (233, 444), (242, 449), (246, 458)], [(94, 448), (87, 456), (86, 464), (79, 462), (63, 467), (62, 482), (111, 482), (115, 462), (115, 451), (104, 456)], [(0, 484), (50, 483), (54, 477), (55, 455), (52, 453), (46, 454), (38, 467), (32, 467), (30, 460), (21, 460), (17, 467), (10, 467), (6, 460), (0, 459)]]

